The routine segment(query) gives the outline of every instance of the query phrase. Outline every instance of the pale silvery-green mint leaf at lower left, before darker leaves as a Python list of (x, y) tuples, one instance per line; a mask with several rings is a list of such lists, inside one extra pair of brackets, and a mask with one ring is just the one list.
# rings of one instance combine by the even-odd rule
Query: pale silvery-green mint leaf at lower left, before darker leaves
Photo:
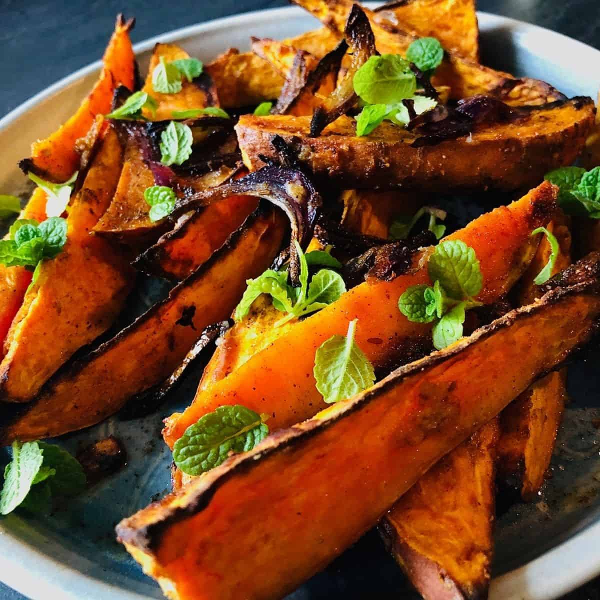
[(31, 490), (43, 455), (37, 442), (13, 442), (13, 460), (4, 470), (4, 486), (0, 492), (0, 514), (7, 515), (19, 506)]

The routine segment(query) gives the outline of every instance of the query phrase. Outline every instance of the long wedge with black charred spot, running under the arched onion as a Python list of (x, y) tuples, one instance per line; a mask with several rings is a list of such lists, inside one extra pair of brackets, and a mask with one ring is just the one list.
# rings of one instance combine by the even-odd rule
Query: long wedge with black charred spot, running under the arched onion
[(208, 262), (171, 290), (169, 298), (58, 374), (25, 412), (4, 419), (2, 445), (93, 425), (166, 379), (202, 329), (229, 317), (244, 292), (246, 278), (256, 277), (269, 266), (285, 230), (286, 218), (279, 212), (249, 217)]

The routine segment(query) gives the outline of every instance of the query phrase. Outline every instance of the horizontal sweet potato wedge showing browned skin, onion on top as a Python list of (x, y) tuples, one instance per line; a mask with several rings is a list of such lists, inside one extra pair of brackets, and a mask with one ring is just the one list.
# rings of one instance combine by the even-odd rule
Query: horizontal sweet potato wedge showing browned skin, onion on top
[(261, 156), (277, 160), (272, 139), (280, 136), (306, 169), (343, 189), (515, 190), (532, 187), (549, 170), (571, 164), (583, 149), (594, 120), (592, 100), (574, 98), (552, 106), (422, 148), (412, 146), (415, 133), (389, 122), (369, 136), (355, 137), (355, 121), (347, 116), (319, 137), (310, 137), (310, 118), (302, 116), (242, 115), (236, 131), (249, 170), (264, 164)]

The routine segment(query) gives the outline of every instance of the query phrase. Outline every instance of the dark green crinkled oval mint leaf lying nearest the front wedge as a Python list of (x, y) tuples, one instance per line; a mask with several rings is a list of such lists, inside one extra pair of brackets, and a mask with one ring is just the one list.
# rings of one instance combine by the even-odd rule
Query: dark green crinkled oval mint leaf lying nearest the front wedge
[(232, 452), (247, 452), (269, 428), (263, 418), (241, 404), (220, 406), (185, 430), (173, 446), (173, 461), (187, 475), (214, 469)]

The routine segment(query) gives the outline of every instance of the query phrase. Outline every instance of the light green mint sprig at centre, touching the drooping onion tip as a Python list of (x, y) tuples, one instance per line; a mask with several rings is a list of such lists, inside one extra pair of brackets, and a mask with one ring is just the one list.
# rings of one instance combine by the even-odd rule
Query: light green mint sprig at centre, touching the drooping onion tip
[(322, 250), (314, 250), (304, 254), (298, 242), (296, 252), (300, 262), (300, 287), (292, 287), (287, 283), (287, 271), (268, 269), (256, 279), (249, 279), (241, 301), (236, 307), (234, 318), (243, 319), (250, 311), (253, 302), (263, 293), (271, 296), (273, 306), (282, 313), (283, 319), (275, 323), (281, 326), (294, 318), (304, 317), (325, 308), (337, 301), (346, 292), (346, 284), (341, 275), (331, 269), (320, 269), (308, 282), (308, 266), (331, 266), (341, 268), (337, 259)]

